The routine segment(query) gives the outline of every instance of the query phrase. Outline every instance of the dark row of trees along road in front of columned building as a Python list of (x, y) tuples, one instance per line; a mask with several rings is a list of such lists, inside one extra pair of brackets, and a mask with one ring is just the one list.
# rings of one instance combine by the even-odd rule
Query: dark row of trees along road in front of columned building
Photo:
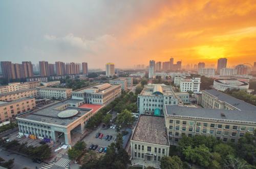
[(30, 158), (37, 158), (45, 160), (51, 157), (52, 151), (48, 144), (44, 144), (38, 147), (28, 146), (28, 143), (20, 144), (17, 140), (11, 142), (1, 142), (2, 146), (8, 150), (16, 151), (22, 154), (28, 155)]

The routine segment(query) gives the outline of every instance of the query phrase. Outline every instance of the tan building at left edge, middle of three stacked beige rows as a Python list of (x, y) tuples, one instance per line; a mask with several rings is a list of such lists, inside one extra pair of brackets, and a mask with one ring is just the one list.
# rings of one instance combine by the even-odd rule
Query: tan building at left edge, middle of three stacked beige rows
[(36, 88), (18, 90), (18, 91), (12, 91), (8, 93), (0, 94), (0, 101), (10, 102), (10, 101), (21, 99), (21, 98), (28, 98), (28, 97), (36, 98), (37, 96), (38, 96), (38, 92)]

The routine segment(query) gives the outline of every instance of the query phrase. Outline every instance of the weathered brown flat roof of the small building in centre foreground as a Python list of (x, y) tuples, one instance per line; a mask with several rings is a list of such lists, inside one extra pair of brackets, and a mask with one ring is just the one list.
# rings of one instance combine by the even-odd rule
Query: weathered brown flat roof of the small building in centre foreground
[(164, 117), (141, 114), (132, 140), (169, 146)]

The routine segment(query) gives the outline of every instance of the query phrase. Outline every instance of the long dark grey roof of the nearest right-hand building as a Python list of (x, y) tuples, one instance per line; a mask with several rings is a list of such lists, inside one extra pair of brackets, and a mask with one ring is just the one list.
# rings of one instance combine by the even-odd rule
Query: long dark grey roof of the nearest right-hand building
[[(224, 116), (223, 116), (224, 114)], [(166, 115), (256, 122), (255, 111), (205, 109), (178, 105), (166, 105)]]

